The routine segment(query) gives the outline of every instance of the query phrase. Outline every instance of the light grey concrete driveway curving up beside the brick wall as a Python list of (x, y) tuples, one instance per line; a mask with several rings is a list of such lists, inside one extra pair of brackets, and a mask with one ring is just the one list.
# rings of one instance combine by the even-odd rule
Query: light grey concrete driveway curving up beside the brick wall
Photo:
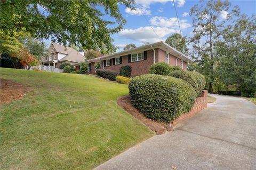
[(217, 98), (174, 131), (156, 135), (96, 169), (256, 169), (256, 106)]

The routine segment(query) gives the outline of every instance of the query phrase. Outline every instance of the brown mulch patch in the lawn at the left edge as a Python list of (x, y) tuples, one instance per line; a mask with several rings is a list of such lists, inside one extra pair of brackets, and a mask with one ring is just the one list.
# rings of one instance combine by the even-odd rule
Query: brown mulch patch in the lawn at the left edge
[(11, 80), (0, 80), (0, 104), (8, 103), (26, 95), (27, 88)]

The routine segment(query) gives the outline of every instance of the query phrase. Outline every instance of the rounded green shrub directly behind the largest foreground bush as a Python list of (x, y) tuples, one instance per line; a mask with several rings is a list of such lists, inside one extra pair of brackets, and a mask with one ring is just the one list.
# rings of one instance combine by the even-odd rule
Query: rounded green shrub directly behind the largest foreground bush
[(196, 76), (191, 74), (190, 71), (175, 70), (175, 71), (170, 72), (170, 74), (168, 76), (185, 80), (187, 83), (189, 83), (194, 88), (196, 93), (201, 92), (198, 87)]

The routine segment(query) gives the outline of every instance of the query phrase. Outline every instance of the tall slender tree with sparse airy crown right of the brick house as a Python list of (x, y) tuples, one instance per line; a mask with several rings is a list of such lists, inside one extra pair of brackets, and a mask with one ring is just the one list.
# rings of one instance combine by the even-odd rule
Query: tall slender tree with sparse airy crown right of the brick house
[[(239, 13), (238, 7), (229, 12), (231, 4), (228, 1), (201, 1), (190, 9), (190, 16), (193, 17), (194, 37), (190, 39), (193, 43), (192, 58), (197, 62), (205, 64), (205, 72), (208, 77), (208, 90), (211, 93), (214, 83), (214, 65), (218, 62), (219, 49), (216, 42), (221, 41), (226, 23), (233, 15)], [(229, 12), (229, 13), (228, 13)], [(226, 15), (223, 15), (226, 14)], [(222, 16), (222, 18), (221, 18)], [(204, 60), (203, 59), (204, 56)]]

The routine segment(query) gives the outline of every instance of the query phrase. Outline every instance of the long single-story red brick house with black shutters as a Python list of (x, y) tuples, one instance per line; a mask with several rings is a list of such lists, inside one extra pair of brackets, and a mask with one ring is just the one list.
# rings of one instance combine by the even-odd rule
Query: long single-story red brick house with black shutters
[[(87, 60), (90, 74), (95, 74), (95, 63), (100, 62), (101, 68), (111, 69), (119, 72), (122, 66), (131, 66), (131, 76), (149, 74), (149, 67), (157, 62), (166, 62), (171, 66), (179, 66), (187, 70), (187, 63), (191, 61), (185, 54), (175, 50), (165, 42), (143, 45), (131, 50), (118, 52), (111, 55), (100, 56), (99, 58)], [(76, 70), (80, 63), (74, 64)]]

